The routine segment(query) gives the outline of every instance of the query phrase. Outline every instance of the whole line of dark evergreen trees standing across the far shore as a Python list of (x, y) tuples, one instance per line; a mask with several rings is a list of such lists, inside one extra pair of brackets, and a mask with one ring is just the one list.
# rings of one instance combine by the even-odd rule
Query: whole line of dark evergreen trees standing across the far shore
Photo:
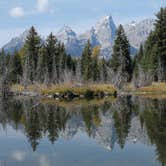
[(31, 27), (21, 50), (14, 55), (0, 52), (0, 75), (9, 83), (25, 86), (72, 82), (112, 83), (122, 88), (131, 81), (136, 87), (165, 82), (166, 8), (156, 15), (155, 28), (135, 57), (130, 55), (130, 43), (122, 25), (117, 30), (111, 59), (101, 58), (100, 46), (92, 48), (89, 40), (82, 56), (73, 58), (53, 33), (44, 41)]

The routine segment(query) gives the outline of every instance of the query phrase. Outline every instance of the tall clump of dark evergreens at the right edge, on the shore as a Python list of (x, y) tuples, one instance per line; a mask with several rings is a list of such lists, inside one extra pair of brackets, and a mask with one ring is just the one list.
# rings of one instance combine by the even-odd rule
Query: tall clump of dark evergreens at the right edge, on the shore
[[(156, 15), (155, 29), (144, 45), (144, 55), (137, 60), (136, 66), (140, 86), (152, 81), (166, 81), (166, 8), (161, 8)], [(136, 68), (135, 68), (136, 70)]]

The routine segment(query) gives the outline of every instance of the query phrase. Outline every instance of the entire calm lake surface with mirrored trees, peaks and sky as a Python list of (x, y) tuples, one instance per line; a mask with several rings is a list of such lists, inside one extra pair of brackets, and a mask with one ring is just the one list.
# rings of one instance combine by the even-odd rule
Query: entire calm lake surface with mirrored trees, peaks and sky
[(166, 99), (1, 99), (0, 166), (166, 166)]

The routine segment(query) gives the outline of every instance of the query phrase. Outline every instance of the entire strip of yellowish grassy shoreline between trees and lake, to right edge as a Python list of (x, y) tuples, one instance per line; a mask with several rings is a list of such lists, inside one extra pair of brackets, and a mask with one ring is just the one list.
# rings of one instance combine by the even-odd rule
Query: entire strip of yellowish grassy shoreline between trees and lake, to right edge
[(166, 83), (153, 83), (142, 88), (133, 88), (127, 85), (124, 90), (118, 91), (111, 84), (90, 84), (82, 86), (64, 85), (30, 85), (26, 88), (20, 84), (12, 85), (13, 96), (40, 97), (54, 100), (73, 100), (73, 99), (102, 99), (104, 97), (117, 97), (122, 95), (135, 95), (144, 97), (163, 97), (166, 98)]

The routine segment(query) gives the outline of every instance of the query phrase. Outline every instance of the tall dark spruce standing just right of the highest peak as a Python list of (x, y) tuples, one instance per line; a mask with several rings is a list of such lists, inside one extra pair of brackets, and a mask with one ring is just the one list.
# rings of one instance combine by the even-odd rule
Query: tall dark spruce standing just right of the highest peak
[(110, 66), (112, 69), (111, 79), (115, 86), (122, 88), (124, 83), (131, 80), (132, 61), (130, 57), (130, 44), (122, 25), (117, 30)]

